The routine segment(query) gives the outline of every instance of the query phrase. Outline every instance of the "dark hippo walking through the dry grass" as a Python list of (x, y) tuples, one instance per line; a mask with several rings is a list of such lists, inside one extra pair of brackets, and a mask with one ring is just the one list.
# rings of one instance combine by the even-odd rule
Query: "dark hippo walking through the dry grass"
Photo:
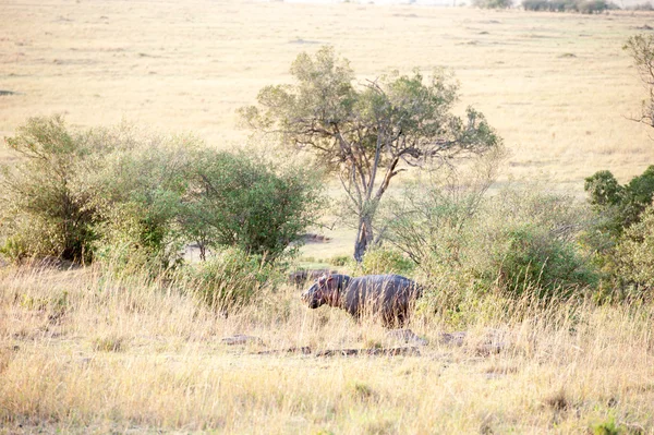
[(378, 316), (386, 327), (402, 326), (409, 309), (422, 295), (420, 286), (399, 275), (324, 275), (304, 293), (310, 309), (323, 304), (338, 306), (359, 319), (363, 314)]

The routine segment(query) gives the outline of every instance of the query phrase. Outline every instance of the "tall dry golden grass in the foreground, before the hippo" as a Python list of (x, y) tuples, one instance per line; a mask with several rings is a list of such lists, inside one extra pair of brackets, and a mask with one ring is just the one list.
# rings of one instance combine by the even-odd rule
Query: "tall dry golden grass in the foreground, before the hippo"
[(399, 343), (291, 288), (228, 318), (93, 268), (4, 269), (0, 289), (0, 433), (653, 433), (651, 306), (488, 315), (449, 341), (415, 317), (420, 354), (319, 357)]

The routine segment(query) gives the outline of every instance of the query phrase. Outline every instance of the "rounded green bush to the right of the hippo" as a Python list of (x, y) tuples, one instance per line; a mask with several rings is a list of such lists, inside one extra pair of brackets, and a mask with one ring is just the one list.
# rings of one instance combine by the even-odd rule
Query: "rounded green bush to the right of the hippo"
[(472, 229), (475, 276), (485, 288), (499, 286), (514, 295), (529, 289), (545, 299), (595, 285), (594, 267), (577, 243), (589, 225), (585, 215), (572, 196), (535, 186), (501, 192)]

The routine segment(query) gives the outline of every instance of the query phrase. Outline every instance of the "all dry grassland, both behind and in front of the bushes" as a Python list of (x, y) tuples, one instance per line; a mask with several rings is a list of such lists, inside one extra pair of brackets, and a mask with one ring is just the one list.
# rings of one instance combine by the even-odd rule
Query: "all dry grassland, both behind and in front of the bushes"
[[(596, 170), (625, 182), (654, 162), (652, 132), (627, 119), (645, 90), (621, 49), (654, 14), (2, 0), (0, 17), (0, 90), (16, 93), (0, 95), (3, 136), (63, 112), (80, 128), (124, 119), (244, 146), (234, 110), (327, 44), (362, 81), (451, 69), (460, 109), (484, 112), (511, 153), (502, 181), (581, 194)], [(350, 230), (326, 234), (306, 257), (351, 252)], [(654, 434), (651, 305), (517, 310), (489, 295), (472, 323), (414, 318), (428, 340), (416, 354), (322, 357), (400, 343), (375, 322), (307, 310), (292, 287), (229, 318), (191, 290), (94, 268), (0, 268), (0, 434)], [(459, 327), (465, 337), (448, 342)], [(261, 341), (222, 342), (234, 334)]]

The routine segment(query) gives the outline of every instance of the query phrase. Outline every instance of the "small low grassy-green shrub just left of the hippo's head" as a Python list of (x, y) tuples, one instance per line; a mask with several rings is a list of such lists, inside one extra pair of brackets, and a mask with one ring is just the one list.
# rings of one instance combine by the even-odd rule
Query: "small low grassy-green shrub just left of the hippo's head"
[(187, 288), (216, 311), (228, 312), (250, 302), (268, 286), (275, 288), (281, 275), (262, 255), (249, 255), (230, 247), (206, 262), (185, 268)]

